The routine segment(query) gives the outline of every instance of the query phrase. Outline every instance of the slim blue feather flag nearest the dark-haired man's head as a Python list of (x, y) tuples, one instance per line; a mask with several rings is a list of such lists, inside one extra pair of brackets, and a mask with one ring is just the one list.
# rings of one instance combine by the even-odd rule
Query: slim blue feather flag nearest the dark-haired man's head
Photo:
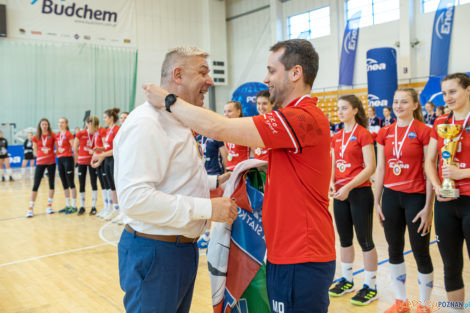
[(356, 61), (357, 41), (359, 40), (359, 22), (361, 11), (355, 13), (346, 23), (344, 29), (341, 60), (339, 65), (339, 84), (352, 86), (354, 63)]

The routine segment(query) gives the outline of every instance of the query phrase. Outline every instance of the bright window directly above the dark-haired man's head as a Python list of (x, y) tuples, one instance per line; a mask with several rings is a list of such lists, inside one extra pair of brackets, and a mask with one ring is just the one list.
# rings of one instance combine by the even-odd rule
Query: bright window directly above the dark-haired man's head
[(290, 16), (287, 19), (289, 39), (313, 39), (330, 34), (330, 7)]

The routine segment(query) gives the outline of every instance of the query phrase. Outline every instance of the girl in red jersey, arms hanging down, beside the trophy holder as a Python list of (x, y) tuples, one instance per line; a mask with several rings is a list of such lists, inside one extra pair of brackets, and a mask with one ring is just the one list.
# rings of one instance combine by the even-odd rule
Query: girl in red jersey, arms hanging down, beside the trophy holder
[[(390, 258), (390, 273), (395, 304), (386, 313), (409, 312), (406, 299), (406, 267), (403, 258), (405, 230), (408, 227), (411, 249), (418, 266), (421, 304), (416, 312), (429, 312), (433, 286), (433, 265), (429, 254), (433, 191), (424, 176), (424, 155), (431, 129), (423, 123), (418, 95), (412, 88), (395, 92), (393, 111), (397, 121), (377, 135), (377, 173), (375, 208), (384, 227)], [(380, 204), (382, 200), (382, 204)]]

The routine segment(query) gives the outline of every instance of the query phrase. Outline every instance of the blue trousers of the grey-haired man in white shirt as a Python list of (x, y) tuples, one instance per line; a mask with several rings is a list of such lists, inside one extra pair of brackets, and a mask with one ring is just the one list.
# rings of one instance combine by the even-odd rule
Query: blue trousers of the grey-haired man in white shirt
[(199, 263), (196, 243), (170, 243), (124, 230), (119, 281), (127, 313), (188, 313)]

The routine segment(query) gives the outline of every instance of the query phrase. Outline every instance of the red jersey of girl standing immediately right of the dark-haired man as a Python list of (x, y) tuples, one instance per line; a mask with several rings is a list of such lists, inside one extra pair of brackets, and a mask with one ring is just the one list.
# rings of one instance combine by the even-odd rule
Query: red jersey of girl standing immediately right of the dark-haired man
[[(349, 133), (344, 133), (344, 145), (347, 143), (347, 146), (344, 150), (344, 156), (341, 157), (341, 141), (343, 138), (344, 128), (337, 132), (332, 139), (332, 148), (335, 151), (335, 188), (338, 190), (342, 186), (349, 183), (354, 179), (365, 167), (364, 157), (362, 155), (362, 147), (370, 145), (374, 142), (372, 139), (371, 133), (362, 127), (357, 125), (354, 134), (352, 131)], [(343, 170), (341, 172), (341, 170)], [(368, 187), (370, 186), (370, 180), (367, 179), (359, 187)]]

